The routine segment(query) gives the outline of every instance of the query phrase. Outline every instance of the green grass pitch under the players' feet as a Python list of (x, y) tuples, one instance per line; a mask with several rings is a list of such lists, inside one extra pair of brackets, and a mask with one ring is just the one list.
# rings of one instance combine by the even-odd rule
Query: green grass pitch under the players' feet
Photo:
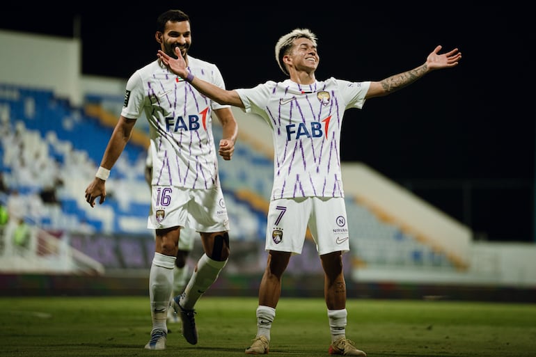
[[(0, 298), (0, 356), (246, 356), (256, 332), (256, 298), (203, 296), (199, 342), (168, 324), (167, 349), (143, 349), (150, 337), (149, 298)], [(457, 301), (349, 300), (347, 338), (369, 357), (524, 357), (536, 354), (536, 305)], [(322, 299), (283, 297), (269, 356), (329, 356)]]

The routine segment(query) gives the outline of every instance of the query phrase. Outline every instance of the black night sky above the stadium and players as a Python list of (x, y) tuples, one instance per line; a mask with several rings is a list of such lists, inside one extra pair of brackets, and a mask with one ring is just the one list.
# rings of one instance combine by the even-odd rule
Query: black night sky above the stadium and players
[(78, 16), (83, 74), (127, 79), (156, 58), (156, 17), (178, 7), (191, 17), (191, 56), (219, 65), (230, 89), (284, 79), (274, 45), (297, 27), (319, 37), (317, 79), (380, 80), (422, 64), (436, 45), (458, 47), (457, 68), (347, 111), (342, 160), (363, 161), (479, 237), (534, 241), (534, 11), (512, 1), (437, 9), (400, 3), (129, 3), (111, 10), (92, 1), (68, 9), (47, 3), (47, 15), (41, 3), (24, 3), (22, 11), (0, 13), (0, 28), (72, 38)]

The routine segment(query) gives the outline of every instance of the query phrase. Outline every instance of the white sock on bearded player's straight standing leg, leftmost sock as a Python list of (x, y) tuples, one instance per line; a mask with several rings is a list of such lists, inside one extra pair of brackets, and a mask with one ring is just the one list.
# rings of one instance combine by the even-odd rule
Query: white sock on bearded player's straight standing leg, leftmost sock
[(152, 331), (168, 331), (169, 296), (173, 289), (175, 257), (155, 253), (149, 273), (149, 299), (151, 305)]

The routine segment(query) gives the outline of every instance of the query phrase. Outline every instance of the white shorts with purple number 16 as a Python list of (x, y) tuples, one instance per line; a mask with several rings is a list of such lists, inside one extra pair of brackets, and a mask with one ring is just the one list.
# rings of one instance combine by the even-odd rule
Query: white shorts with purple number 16
[(196, 232), (228, 231), (229, 218), (221, 189), (152, 186), (147, 228), (164, 229), (178, 225)]

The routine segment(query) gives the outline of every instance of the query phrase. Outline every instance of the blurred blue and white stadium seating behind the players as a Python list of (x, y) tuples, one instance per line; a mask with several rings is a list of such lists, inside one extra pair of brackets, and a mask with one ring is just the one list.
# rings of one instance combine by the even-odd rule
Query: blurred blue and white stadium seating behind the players
[[(143, 177), (143, 140), (129, 143), (114, 166), (107, 203), (93, 209), (85, 202), (84, 187), (113, 129), (111, 114), (99, 109), (98, 98), (91, 97), (88, 103), (90, 110), (73, 108), (50, 90), (0, 86), (1, 129), (6, 133), (1, 170), (6, 184), (26, 196), (44, 196), (43, 191), (52, 189), (52, 202), (43, 202), (33, 217), (45, 230), (78, 232), (86, 227), (88, 232), (110, 235), (147, 235), (150, 192)], [(213, 130), (216, 138), (221, 137), (219, 125), (214, 124)], [(233, 159), (221, 162), (220, 175), (233, 239), (263, 241), (271, 159), (240, 142)], [(380, 221), (353, 198), (347, 198), (347, 209), (356, 264), (452, 269), (441, 251)]]

